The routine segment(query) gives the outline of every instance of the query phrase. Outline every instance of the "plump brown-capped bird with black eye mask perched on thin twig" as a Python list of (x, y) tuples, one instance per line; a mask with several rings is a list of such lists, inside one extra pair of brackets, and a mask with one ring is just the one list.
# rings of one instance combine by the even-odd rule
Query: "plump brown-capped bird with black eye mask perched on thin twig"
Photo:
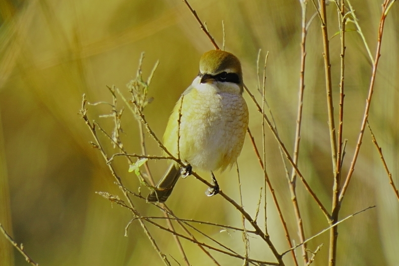
[(241, 63), (233, 54), (211, 50), (199, 61), (199, 74), (176, 103), (164, 134), (164, 146), (187, 167), (172, 162), (148, 202), (165, 202), (181, 175), (191, 167), (210, 171), (219, 192), (214, 171), (232, 166), (241, 152), (248, 126), (248, 108), (242, 97)]

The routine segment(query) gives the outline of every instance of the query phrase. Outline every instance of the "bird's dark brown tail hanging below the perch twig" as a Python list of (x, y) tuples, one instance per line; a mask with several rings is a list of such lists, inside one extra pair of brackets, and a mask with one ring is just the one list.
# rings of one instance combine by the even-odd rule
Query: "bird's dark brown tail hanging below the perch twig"
[(180, 175), (180, 168), (172, 163), (164, 174), (162, 180), (158, 183), (156, 189), (148, 194), (147, 201), (165, 202), (172, 193), (172, 190), (176, 185)]

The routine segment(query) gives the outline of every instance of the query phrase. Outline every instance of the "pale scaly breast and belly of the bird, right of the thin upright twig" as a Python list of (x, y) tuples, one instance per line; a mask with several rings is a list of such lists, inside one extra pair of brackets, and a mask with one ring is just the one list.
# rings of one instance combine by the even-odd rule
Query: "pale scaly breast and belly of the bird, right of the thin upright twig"
[(245, 138), (248, 116), (243, 98), (217, 94), (189, 104), (181, 117), (181, 158), (199, 169), (224, 170), (236, 161)]

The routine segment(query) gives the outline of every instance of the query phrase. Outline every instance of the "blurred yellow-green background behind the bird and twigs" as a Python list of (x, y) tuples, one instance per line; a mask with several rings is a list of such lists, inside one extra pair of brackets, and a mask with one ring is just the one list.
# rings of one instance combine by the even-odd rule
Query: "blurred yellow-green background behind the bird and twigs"
[[(359, 23), (374, 56), (382, 1), (353, 0)], [(216, 1), (192, 0), (192, 7), (207, 22), (221, 46), (225, 24), (225, 50), (240, 58), (244, 81), (260, 101), (257, 92), (257, 55), (266, 67), (266, 97), (280, 136), (292, 154), (300, 76), (301, 6), (298, 0)], [(308, 19), (315, 14), (309, 3)], [(338, 119), (339, 35), (337, 12), (328, 6), (329, 35)], [(78, 115), (82, 95), (89, 102), (112, 101), (106, 85), (120, 88), (128, 97), (126, 83), (135, 77), (141, 52), (145, 52), (143, 75), (148, 76), (157, 60), (149, 88), (154, 101), (145, 115), (162, 137), (169, 114), (180, 94), (198, 73), (201, 55), (213, 49), (197, 22), (180, 0), (48, 1), (0, 0), (0, 223), (40, 265), (161, 265), (157, 253), (130, 212), (95, 194), (107, 191), (119, 196), (113, 176), (92, 136)], [(369, 121), (399, 186), (399, 5), (393, 5), (386, 19), (380, 64)], [(355, 29), (348, 23), (348, 29)], [(371, 75), (371, 61), (356, 31), (346, 34), (344, 138), (348, 140), (343, 176), (348, 171), (356, 146)], [(331, 207), (332, 166), (327, 124), (325, 79), (320, 22), (309, 27), (305, 73), (304, 118), (299, 168), (328, 209)], [(262, 59), (263, 58), (263, 59)], [(261, 66), (263, 68), (263, 66)], [(248, 95), (250, 128), (262, 149), (261, 116)], [(119, 108), (123, 102), (119, 101)], [(107, 106), (88, 106), (90, 119), (108, 131), (113, 128)], [(122, 116), (122, 141), (128, 152), (140, 152), (138, 126), (131, 113)], [(367, 130), (367, 129), (366, 129)], [(266, 166), (291, 238), (296, 233), (290, 194), (278, 146), (266, 130)], [(160, 155), (147, 137), (149, 154)], [(107, 146), (111, 155), (111, 145)], [(255, 215), (263, 172), (251, 143), (246, 142), (238, 160), (243, 205)], [(164, 173), (164, 161), (149, 163), (156, 180)], [(115, 161), (125, 185), (137, 192), (139, 183), (123, 158)], [(204, 177), (208, 178), (206, 174)], [(218, 174), (221, 188), (238, 201), (238, 181), (233, 167)], [(221, 197), (204, 195), (204, 184), (189, 177), (180, 180), (168, 205), (182, 218), (208, 220), (241, 226), (239, 213)], [(147, 189), (141, 188), (146, 195)], [(328, 227), (315, 202), (297, 182), (298, 201), (307, 237)], [(270, 193), (268, 193), (270, 196)], [(268, 231), (277, 249), (287, 249), (281, 223), (268, 196)], [(143, 201), (137, 208), (143, 215), (161, 215)], [(263, 204), (263, 199), (262, 199)], [(365, 132), (355, 174), (342, 204), (340, 218), (371, 205), (377, 207), (339, 226), (337, 265), (399, 265), (399, 204), (388, 183), (379, 155)], [(261, 210), (259, 224), (264, 213)], [(164, 223), (164, 221), (160, 221)], [(239, 232), (199, 227), (243, 254)], [(183, 264), (171, 235), (149, 226), (161, 250), (172, 261)], [(198, 236), (199, 241), (206, 241)], [(273, 260), (269, 248), (250, 238), (251, 255)], [(192, 265), (210, 265), (211, 260), (195, 245), (182, 240)], [(309, 249), (324, 243), (314, 265), (326, 265), (328, 233), (312, 240)], [(301, 253), (297, 250), (298, 254)], [(242, 261), (213, 253), (222, 265)], [(292, 265), (290, 255), (285, 259)], [(301, 263), (300, 259), (300, 263)], [(22, 255), (0, 236), (0, 264), (27, 265)]]

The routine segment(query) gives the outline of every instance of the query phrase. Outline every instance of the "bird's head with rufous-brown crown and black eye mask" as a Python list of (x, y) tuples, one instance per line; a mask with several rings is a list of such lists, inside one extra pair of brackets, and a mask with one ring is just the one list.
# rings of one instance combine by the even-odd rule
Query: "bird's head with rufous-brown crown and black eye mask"
[(221, 91), (237, 91), (242, 94), (241, 63), (236, 56), (221, 50), (206, 52), (199, 61), (201, 83), (215, 84)]

